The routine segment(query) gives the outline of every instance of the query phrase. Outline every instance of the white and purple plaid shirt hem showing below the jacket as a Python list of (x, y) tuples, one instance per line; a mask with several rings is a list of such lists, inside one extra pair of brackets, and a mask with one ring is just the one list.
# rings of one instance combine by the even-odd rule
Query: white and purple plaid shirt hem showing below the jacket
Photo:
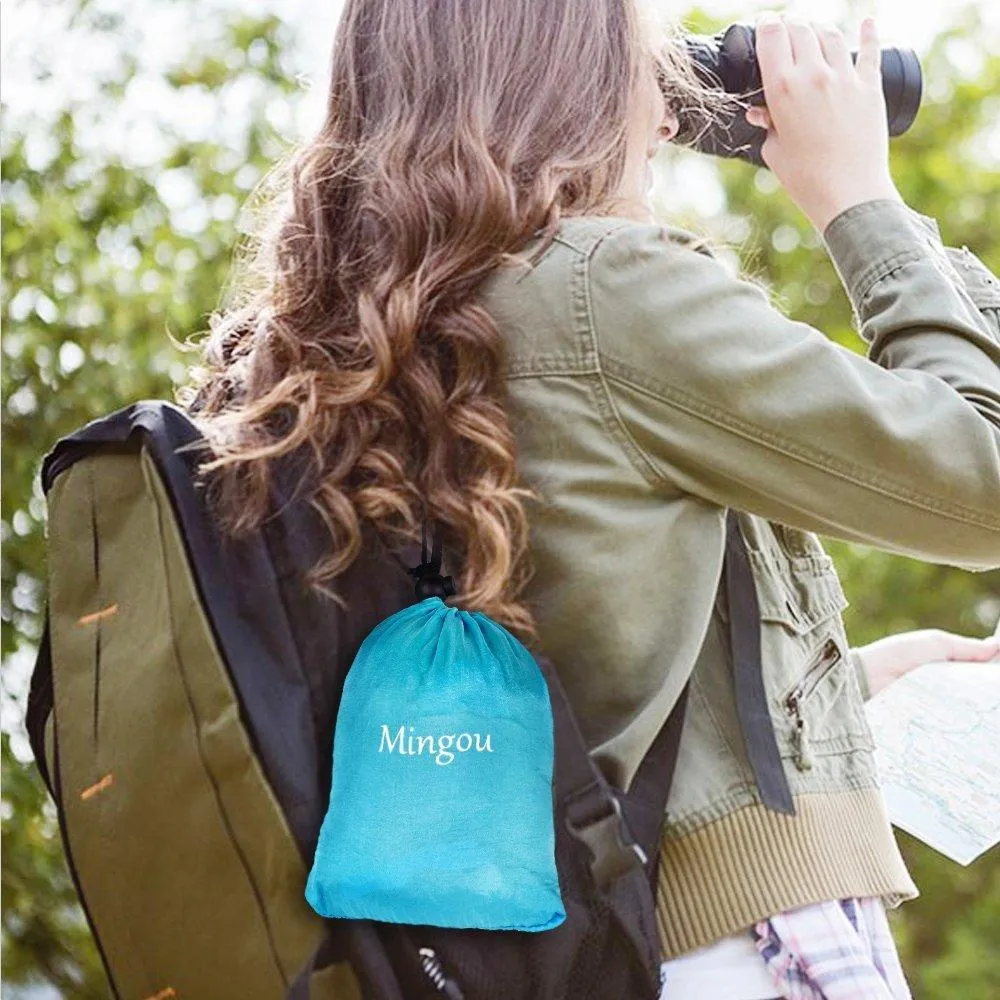
[(911, 1000), (879, 899), (780, 913), (752, 935), (785, 1000)]

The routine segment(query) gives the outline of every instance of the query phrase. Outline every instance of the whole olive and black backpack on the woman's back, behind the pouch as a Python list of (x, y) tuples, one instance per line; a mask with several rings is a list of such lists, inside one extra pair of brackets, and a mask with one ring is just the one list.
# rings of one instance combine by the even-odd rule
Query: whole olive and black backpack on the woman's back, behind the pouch
[[(329, 536), (294, 469), (258, 532), (224, 538), (194, 483), (199, 443), (182, 409), (144, 401), (62, 438), (41, 469), (48, 605), (27, 728), (113, 995), (655, 1000), (658, 846), (687, 688), (626, 794), (536, 654), (558, 926), (320, 916), (304, 889), (345, 678), (380, 622), (449, 593), (440, 542), (400, 555), (369, 536), (338, 578), (342, 609), (304, 584)], [(739, 638), (753, 588), (723, 578)]]

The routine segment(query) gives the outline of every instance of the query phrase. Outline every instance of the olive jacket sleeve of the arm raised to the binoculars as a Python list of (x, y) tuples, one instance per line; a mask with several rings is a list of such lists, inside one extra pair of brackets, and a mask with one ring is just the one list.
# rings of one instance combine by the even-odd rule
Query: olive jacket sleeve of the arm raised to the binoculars
[(606, 414), (643, 474), (806, 531), (1000, 566), (1000, 294), (985, 267), (900, 202), (842, 212), (823, 237), (861, 357), (691, 236), (624, 225), (587, 271)]

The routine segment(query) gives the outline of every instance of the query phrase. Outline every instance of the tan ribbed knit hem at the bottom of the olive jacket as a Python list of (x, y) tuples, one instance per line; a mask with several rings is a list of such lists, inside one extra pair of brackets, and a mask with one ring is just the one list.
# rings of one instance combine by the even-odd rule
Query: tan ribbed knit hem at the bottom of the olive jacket
[(828, 899), (916, 896), (878, 789), (801, 795), (794, 816), (747, 806), (664, 834), (656, 922), (664, 959)]

